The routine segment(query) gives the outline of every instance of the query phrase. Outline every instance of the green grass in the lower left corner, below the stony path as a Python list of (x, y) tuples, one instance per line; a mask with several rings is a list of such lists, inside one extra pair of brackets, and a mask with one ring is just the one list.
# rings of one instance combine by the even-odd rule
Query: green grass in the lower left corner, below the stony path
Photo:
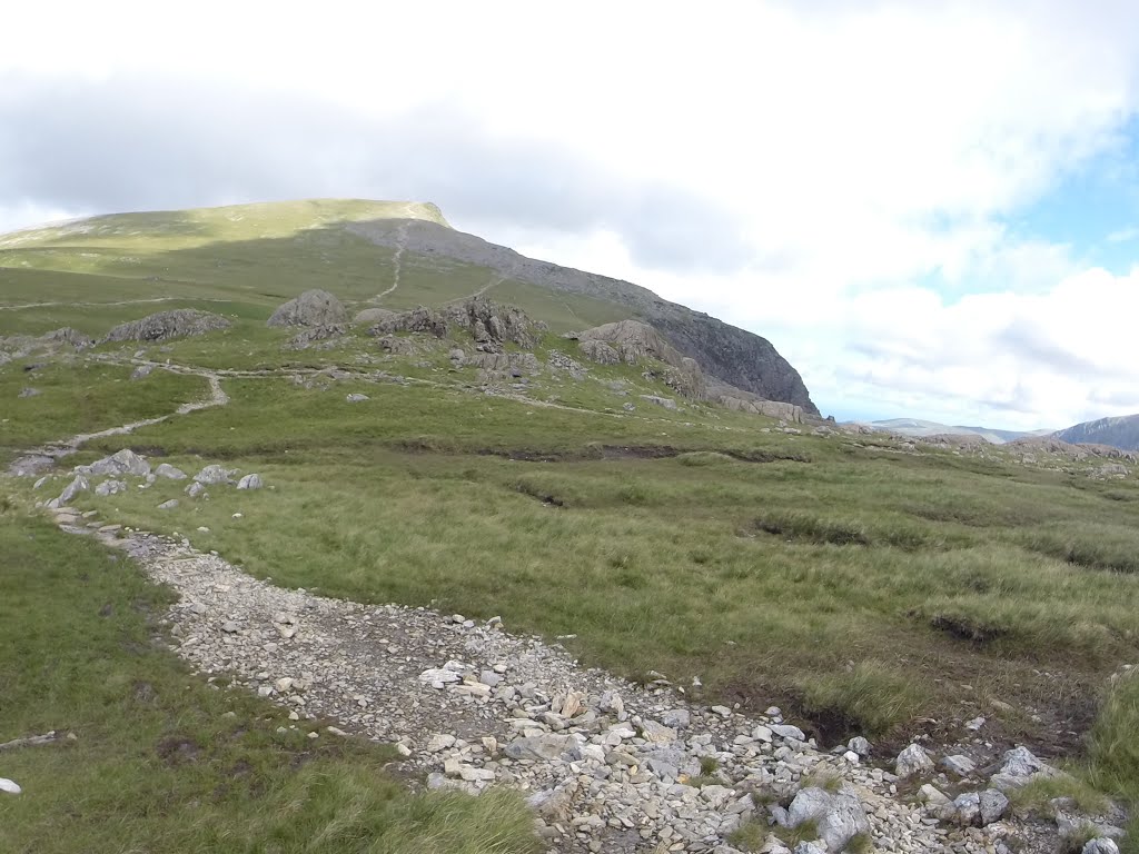
[(24, 794), (0, 799), (0, 849), (536, 852), (508, 791), (411, 795), (394, 752), (206, 684), (156, 643), (169, 596), (125, 559), (0, 512), (0, 741)]

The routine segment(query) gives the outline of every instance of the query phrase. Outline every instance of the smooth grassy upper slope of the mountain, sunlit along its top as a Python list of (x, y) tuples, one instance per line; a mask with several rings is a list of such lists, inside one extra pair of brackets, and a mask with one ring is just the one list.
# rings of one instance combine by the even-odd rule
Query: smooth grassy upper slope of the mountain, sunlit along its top
[(519, 305), (554, 331), (631, 315), (614, 303), (415, 253), (400, 258), (399, 287), (378, 298), (395, 282), (395, 251), (345, 225), (386, 217), (446, 224), (434, 205), (317, 200), (115, 214), (0, 236), (0, 335), (64, 325), (101, 334), (124, 317), (124, 306), (107, 303), (123, 301), (138, 301), (141, 309), (125, 317), (197, 307), (254, 321), (255, 328), (310, 288), (335, 293), (350, 309), (408, 309), (462, 299), (493, 284), (495, 298)]

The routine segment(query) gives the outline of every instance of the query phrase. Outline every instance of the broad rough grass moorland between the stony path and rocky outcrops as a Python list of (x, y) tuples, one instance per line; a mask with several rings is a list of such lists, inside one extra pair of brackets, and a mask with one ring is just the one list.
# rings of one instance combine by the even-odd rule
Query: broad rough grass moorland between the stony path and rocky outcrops
[[(210, 527), (191, 534), (199, 548), (279, 583), (577, 634), (592, 664), (699, 676), (764, 708), (779, 697), (830, 736), (880, 734), (956, 705), (961, 683), (1035, 703), (1056, 693), (1041, 664), (1063, 662), (1087, 688), (1136, 651), (1139, 578), (1019, 544), (1057, 516), (1130, 524), (1130, 503), (1072, 490), (1066, 476), (852, 454), (664, 410), (617, 418), (428, 386), (227, 389), (229, 407), (98, 449), (162, 449), (190, 468), (224, 459), (276, 488), (214, 491), (167, 514), (155, 506), (179, 493), (161, 484), (116, 496), (114, 516)], [(371, 400), (343, 403), (347, 391)], [(975, 500), (1022, 524), (908, 512), (945, 492), (961, 514)], [(772, 535), (761, 518), (809, 535)], [(836, 529), (867, 535), (818, 535)]]

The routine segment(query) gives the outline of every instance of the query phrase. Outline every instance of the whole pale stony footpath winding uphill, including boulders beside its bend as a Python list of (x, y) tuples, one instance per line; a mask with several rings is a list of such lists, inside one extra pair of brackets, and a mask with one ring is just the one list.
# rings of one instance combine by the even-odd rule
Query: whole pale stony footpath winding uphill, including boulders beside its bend
[[(198, 405), (224, 404), (216, 375), (211, 387)], [(88, 438), (32, 459), (54, 463)], [(478, 624), (284, 590), (187, 540), (124, 531), (68, 507), (80, 492), (109, 495), (156, 477), (189, 481), (189, 500), (206, 487), (262, 486), (257, 475), (238, 482), (235, 474), (216, 465), (192, 478), (169, 466), (151, 471), (145, 458), (120, 451), (76, 467), (63, 493), (39, 506), (64, 531), (125, 550), (177, 591), (171, 644), (199, 673), (280, 704), (285, 726), (337, 722), (311, 737), (394, 742), (429, 788), (522, 790), (551, 852), (734, 854), (732, 840), (743, 846), (741, 837), (771, 827), (779, 836), (759, 849), (772, 854), (1042, 853), (1057, 851), (1060, 835), (1085, 831), (1088, 820), (1063, 808), (1058, 823), (1011, 816), (1005, 793), (1062, 773), (1023, 747), (988, 767), (965, 755), (935, 763), (918, 745), (896, 759), (876, 756), (862, 738), (828, 752), (777, 708), (745, 716), (689, 704), (663, 676), (634, 685), (582, 668), (560, 646), (511, 635), (499, 618)], [(1116, 851), (1108, 838), (1116, 828), (1095, 832), (1084, 852)]]

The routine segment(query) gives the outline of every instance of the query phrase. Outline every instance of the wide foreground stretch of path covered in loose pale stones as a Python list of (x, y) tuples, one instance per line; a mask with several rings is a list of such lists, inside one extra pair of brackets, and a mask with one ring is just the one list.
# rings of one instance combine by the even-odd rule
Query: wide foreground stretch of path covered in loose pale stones
[[(185, 540), (124, 536), (67, 508), (55, 518), (179, 594), (171, 646), (200, 674), (270, 698), (282, 726), (394, 742), (428, 788), (523, 790), (550, 852), (732, 854), (726, 838), (757, 810), (749, 793), (789, 796), (811, 775), (844, 781), (836, 803), (880, 848), (982, 854), (1013, 832), (954, 837), (894, 796), (891, 778), (816, 749), (773, 711), (746, 717), (688, 704), (663, 678), (640, 687), (584, 670), (498, 618), (284, 590)], [(702, 772), (714, 779), (685, 783)]]

